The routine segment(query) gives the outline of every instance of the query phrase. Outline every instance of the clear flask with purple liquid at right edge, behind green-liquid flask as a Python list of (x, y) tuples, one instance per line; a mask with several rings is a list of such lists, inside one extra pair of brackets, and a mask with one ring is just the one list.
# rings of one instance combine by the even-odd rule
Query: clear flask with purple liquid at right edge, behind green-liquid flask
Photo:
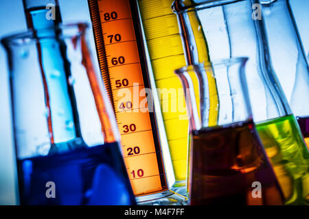
[(271, 62), (309, 146), (309, 67), (287, 0), (260, 0)]

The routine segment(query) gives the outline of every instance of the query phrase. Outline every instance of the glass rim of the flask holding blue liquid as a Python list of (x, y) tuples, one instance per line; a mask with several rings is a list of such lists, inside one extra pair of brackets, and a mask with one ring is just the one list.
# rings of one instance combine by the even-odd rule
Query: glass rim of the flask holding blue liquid
[[(5, 36), (1, 38), (1, 43), (3, 45), (27, 45), (32, 42), (37, 42), (38, 40), (50, 40), (54, 39), (55, 35), (53, 34), (43, 34), (48, 33), (48, 31), (53, 30), (54, 32), (60, 31), (60, 37), (57, 36), (57, 38), (65, 39), (65, 38), (72, 38), (76, 36), (81, 36), (85, 29), (89, 27), (88, 23), (68, 23), (68, 24), (58, 24), (52, 27), (47, 27), (43, 29), (27, 29), (27, 31), (19, 32), (17, 34), (11, 34), (9, 36)], [(78, 29), (78, 31), (75, 31), (75, 33), (63, 33), (63, 31), (67, 31), (69, 29)], [(43, 36), (36, 36), (38, 31), (42, 33)]]

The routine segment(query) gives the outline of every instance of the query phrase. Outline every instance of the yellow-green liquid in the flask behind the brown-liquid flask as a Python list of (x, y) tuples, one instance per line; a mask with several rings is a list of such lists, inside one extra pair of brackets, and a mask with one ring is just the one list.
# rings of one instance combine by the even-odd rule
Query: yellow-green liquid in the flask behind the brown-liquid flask
[(256, 125), (286, 204), (309, 204), (309, 153), (293, 115)]

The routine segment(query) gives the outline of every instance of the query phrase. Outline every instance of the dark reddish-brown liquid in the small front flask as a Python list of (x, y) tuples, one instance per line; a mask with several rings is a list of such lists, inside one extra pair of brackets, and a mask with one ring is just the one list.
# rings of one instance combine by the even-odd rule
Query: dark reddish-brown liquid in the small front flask
[(191, 205), (282, 205), (253, 121), (193, 131)]

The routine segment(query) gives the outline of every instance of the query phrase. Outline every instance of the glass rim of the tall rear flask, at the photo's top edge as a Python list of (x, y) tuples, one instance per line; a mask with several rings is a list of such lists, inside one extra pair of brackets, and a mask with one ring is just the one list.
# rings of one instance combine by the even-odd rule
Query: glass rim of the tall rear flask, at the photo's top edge
[(172, 3), (172, 10), (175, 14), (182, 14), (185, 12), (190, 12), (194, 10), (203, 10), (205, 8), (212, 8), (219, 5), (226, 5), (229, 3), (234, 3), (237, 1), (244, 1), (244, 0), (204, 0), (198, 3), (194, 3), (192, 5), (178, 5), (177, 1), (175, 0)]

